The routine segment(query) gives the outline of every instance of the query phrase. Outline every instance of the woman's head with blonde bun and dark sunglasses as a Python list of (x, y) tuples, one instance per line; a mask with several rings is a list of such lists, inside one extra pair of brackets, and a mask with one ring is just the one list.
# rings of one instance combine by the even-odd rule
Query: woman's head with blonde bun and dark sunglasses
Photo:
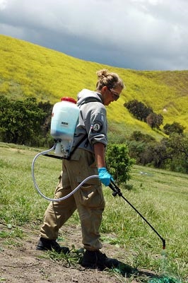
[(119, 98), (124, 88), (124, 83), (118, 74), (110, 73), (107, 69), (97, 71), (97, 75), (96, 91), (102, 94), (104, 105), (109, 105), (112, 101)]

